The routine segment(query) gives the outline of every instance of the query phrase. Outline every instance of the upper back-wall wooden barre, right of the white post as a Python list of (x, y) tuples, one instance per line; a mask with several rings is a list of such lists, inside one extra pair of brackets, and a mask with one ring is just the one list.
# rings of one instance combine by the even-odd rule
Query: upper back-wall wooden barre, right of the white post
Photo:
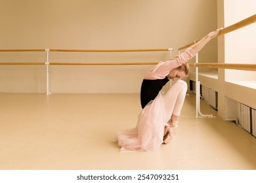
[(155, 48), (155, 49), (128, 49), (128, 50), (67, 50), (50, 49), (51, 52), (163, 52), (173, 51), (173, 48)]

